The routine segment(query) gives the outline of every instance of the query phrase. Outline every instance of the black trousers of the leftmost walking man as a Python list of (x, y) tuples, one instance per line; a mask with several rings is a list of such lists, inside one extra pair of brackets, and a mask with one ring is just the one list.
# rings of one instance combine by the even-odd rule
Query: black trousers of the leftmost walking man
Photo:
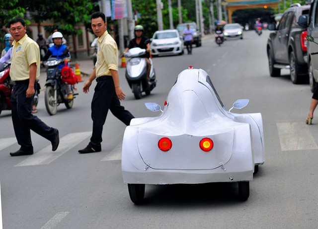
[[(49, 141), (54, 140), (55, 130), (31, 113), (33, 97), (26, 97), (29, 80), (16, 81), (11, 94), (12, 123), (20, 150), (33, 152), (30, 130)], [(36, 83), (34, 85), (36, 90)]]

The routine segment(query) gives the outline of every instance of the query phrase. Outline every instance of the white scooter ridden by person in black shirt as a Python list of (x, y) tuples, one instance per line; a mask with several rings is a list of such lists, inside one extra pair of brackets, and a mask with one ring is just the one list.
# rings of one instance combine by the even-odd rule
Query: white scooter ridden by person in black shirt
[(144, 57), (146, 49), (139, 47), (129, 49), (125, 53), (125, 57), (130, 58), (126, 63), (126, 79), (136, 99), (140, 99), (142, 92), (149, 95), (152, 89), (156, 87), (156, 73), (154, 69), (153, 60), (150, 58), (150, 81), (147, 80), (147, 63)]

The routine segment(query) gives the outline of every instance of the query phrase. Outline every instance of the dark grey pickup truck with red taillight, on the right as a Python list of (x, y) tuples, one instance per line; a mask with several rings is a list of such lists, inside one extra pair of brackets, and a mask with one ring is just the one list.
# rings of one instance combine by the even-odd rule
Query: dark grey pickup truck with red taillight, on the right
[(308, 81), (307, 30), (298, 25), (300, 15), (308, 15), (310, 5), (292, 4), (277, 26), (270, 24), (267, 56), (270, 76), (280, 76), (281, 69), (290, 69), (293, 83)]

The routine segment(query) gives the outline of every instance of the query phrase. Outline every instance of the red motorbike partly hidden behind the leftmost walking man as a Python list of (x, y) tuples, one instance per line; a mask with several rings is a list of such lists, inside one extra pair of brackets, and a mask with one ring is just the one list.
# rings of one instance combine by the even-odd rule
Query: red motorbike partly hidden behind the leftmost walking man
[(9, 76), (11, 63), (0, 63), (0, 113), (11, 110), (11, 93), (13, 81)]

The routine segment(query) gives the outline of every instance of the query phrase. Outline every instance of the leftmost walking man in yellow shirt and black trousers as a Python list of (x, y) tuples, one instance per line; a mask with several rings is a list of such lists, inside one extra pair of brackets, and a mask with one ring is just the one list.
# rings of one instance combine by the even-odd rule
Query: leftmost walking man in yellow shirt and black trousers
[(21, 146), (10, 155), (33, 154), (30, 130), (49, 140), (52, 151), (56, 151), (60, 141), (59, 131), (47, 126), (31, 113), (36, 90), (35, 80), (40, 76), (39, 46), (26, 34), (24, 20), (15, 18), (8, 25), (14, 39), (10, 68), (10, 76), (14, 82), (11, 94), (12, 123), (16, 140)]

